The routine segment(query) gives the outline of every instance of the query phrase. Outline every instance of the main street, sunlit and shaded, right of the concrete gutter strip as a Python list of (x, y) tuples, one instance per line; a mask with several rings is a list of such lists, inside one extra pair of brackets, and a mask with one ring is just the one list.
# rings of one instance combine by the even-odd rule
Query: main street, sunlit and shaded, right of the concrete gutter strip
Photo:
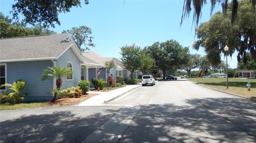
[(140, 87), (109, 103), (139, 105), (119, 142), (256, 142), (256, 103), (187, 80)]

